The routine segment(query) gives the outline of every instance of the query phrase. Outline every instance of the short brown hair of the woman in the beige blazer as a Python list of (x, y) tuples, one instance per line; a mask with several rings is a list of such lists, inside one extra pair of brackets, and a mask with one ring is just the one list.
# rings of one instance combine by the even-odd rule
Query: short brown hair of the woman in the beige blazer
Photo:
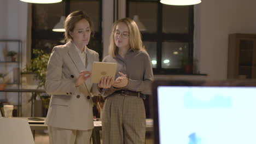
[(90, 29), (91, 29), (91, 34), (93, 35), (93, 29), (92, 29), (92, 21), (88, 15), (84, 13), (82, 10), (77, 10), (74, 11), (73, 13), (69, 14), (65, 20), (64, 27), (65, 27), (65, 40), (69, 41), (72, 39), (71, 35), (69, 32), (72, 32), (75, 27), (75, 23), (78, 21), (85, 19), (86, 21), (89, 22)]

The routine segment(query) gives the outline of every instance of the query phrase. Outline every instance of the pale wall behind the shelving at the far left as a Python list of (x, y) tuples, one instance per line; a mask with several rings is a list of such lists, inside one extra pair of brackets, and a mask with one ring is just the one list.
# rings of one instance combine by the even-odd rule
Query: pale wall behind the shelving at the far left
[[(22, 66), (26, 62), (26, 39), (27, 39), (27, 3), (18, 0), (0, 0), (0, 39), (19, 39), (22, 41)], [(8, 47), (12, 50), (14, 47)], [(2, 50), (1, 50), (2, 52)], [(3, 69), (4, 67), (2, 67)], [(8, 65), (10, 67), (15, 65)], [(12, 71), (10, 72), (12, 73)], [(12, 87), (11, 85), (9, 87)], [(26, 93), (25, 93), (26, 94)], [(0, 99), (7, 98), (11, 105), (18, 104), (17, 93), (1, 93)], [(27, 99), (23, 99), (27, 103)], [(26, 106), (23, 105), (26, 109)]]

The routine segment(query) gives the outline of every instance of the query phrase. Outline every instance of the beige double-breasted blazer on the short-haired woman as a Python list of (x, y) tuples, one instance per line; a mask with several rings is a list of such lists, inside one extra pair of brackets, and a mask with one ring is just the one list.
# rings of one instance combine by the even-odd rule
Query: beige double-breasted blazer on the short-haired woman
[(79, 71), (91, 71), (92, 63), (98, 61), (98, 53), (88, 48), (86, 48), (86, 57), (85, 67), (72, 41), (54, 47), (48, 61), (45, 81), (45, 91), (51, 94), (45, 124), (75, 130), (94, 128), (93, 104), (89, 92), (94, 95), (100, 92), (96, 84), (92, 85), (91, 79), (75, 87)]

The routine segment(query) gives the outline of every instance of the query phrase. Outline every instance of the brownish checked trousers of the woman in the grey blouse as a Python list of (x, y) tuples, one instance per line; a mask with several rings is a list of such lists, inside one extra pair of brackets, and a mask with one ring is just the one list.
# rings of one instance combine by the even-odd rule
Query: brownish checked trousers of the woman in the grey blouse
[(145, 135), (143, 100), (119, 94), (107, 97), (102, 113), (103, 144), (144, 144)]

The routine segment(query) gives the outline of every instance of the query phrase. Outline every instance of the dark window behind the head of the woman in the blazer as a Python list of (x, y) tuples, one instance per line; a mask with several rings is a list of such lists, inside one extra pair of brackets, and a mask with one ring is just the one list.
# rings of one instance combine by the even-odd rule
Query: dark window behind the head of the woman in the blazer
[[(65, 44), (63, 32), (53, 32), (52, 29), (61, 16), (67, 16), (76, 10), (83, 10), (94, 24), (94, 37), (88, 44), (102, 58), (102, 1), (101, 0), (66, 0), (54, 4), (32, 4), (32, 46), (50, 53), (54, 46)], [(34, 57), (32, 53), (32, 58)]]

